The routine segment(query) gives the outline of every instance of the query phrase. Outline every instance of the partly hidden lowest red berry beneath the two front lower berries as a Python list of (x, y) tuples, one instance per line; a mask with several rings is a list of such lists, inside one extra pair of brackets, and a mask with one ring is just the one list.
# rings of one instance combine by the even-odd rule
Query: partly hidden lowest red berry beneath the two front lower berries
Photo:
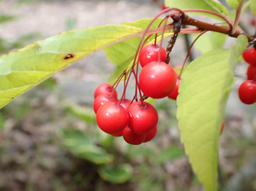
[(138, 135), (132, 132), (132, 130), (128, 126), (126, 126), (123, 131), (123, 137), (127, 143), (132, 145), (139, 145), (143, 143), (143, 141), (146, 138), (146, 135)]

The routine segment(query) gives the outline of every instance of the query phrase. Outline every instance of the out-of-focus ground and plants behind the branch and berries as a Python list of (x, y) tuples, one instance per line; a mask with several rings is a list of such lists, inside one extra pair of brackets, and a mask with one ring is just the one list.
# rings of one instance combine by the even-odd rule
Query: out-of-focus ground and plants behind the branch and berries
[[(0, 0), (0, 54), (75, 28), (154, 17), (162, 3)], [(251, 34), (252, 20), (249, 11), (241, 19)], [(182, 64), (192, 38), (178, 37), (173, 66)], [(192, 58), (200, 54), (193, 48)], [(219, 183), (230, 191), (256, 191), (256, 104), (244, 105), (237, 95), (246, 68), (244, 62), (237, 65), (219, 146)], [(158, 133), (148, 143), (129, 145), (99, 130), (93, 94), (113, 69), (97, 52), (0, 110), (0, 191), (203, 191), (180, 142), (175, 101), (154, 102)], [(131, 99), (134, 87), (129, 88)]]

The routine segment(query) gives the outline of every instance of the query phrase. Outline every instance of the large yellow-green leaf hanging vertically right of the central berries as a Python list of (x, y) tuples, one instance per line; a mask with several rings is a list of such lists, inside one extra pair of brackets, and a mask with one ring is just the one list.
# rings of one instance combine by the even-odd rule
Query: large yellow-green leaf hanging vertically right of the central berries
[(217, 190), (218, 144), (233, 71), (245, 49), (240, 35), (231, 50), (212, 50), (195, 59), (182, 76), (177, 98), (181, 141), (206, 191)]

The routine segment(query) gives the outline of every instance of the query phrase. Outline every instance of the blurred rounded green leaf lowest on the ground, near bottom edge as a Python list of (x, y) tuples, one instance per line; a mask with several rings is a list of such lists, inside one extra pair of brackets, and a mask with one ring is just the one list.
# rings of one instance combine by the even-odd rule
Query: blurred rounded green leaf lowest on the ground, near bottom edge
[(103, 165), (98, 168), (98, 173), (102, 179), (114, 184), (120, 184), (131, 179), (133, 168), (130, 164), (121, 164), (117, 167)]

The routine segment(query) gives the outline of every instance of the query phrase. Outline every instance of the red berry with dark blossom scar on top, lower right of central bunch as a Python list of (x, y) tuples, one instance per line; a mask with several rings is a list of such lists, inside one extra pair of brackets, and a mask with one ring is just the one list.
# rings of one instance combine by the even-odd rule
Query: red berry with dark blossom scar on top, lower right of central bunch
[(127, 112), (129, 114), (128, 126), (136, 134), (144, 135), (157, 126), (157, 110), (147, 102), (134, 102), (129, 106)]

